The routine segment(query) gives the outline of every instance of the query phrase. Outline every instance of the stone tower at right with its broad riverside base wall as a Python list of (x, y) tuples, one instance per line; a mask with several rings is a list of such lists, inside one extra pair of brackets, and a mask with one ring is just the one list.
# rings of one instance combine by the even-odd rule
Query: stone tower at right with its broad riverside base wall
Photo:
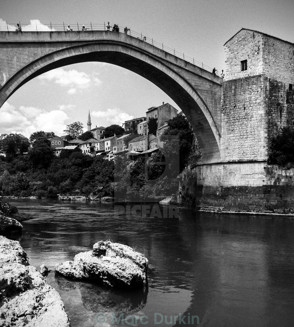
[(269, 137), (294, 124), (294, 44), (243, 28), (225, 43), (225, 53), (222, 161), (187, 167), (181, 200), (225, 210), (294, 213), (294, 169), (267, 164)]

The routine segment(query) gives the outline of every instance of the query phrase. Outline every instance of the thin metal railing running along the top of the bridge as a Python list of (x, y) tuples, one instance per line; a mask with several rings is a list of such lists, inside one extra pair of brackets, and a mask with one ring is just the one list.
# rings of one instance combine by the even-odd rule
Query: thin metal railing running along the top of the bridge
[[(6, 23), (7, 24), (7, 30), (8, 31), (14, 31), (16, 28), (17, 28), (17, 25), (16, 24), (10, 24), (10, 23)], [(19, 22), (19, 25), (21, 26), (21, 23)], [(76, 24), (69, 24), (70, 25), (70, 28), (73, 30), (73, 31), (78, 31), (78, 32), (81, 32), (81, 33), (84, 33), (84, 32), (89, 32), (89, 31), (106, 31), (107, 30), (107, 25), (105, 23), (103, 24), (95, 24), (95, 23), (87, 23), (87, 24), (79, 24), (78, 22)], [(85, 26), (85, 29), (83, 30), (83, 25)], [(13, 29), (11, 28), (12, 26), (15, 26), (13, 27)], [(3, 26), (1, 26), (2, 28), (0, 30), (4, 30), (3, 29)], [(112, 31), (112, 27), (110, 28), (110, 32), (113, 32), (115, 33), (114, 31)], [(119, 26), (118, 26), (119, 27)], [(64, 22), (62, 24), (52, 24), (50, 22), (50, 24), (41, 24), (41, 25), (37, 25), (36, 23), (36, 26), (33, 26), (32, 24), (30, 25), (26, 25), (26, 26), (21, 26), (22, 28), (22, 31), (26, 32), (26, 31), (34, 31), (34, 32), (42, 32), (42, 31), (47, 31), (47, 32), (55, 32), (55, 31), (64, 31), (64, 32), (69, 32), (70, 31), (67, 31), (67, 28), (68, 28), (68, 24), (65, 24)], [(128, 27), (129, 28), (129, 27)], [(124, 33), (124, 27), (119, 27), (119, 32), (120, 33)], [(210, 71), (212, 72), (212, 68), (205, 65), (203, 63), (203, 61), (198, 61), (198, 60), (195, 60), (194, 58), (192, 57), (189, 57), (187, 55), (184, 54), (184, 52), (179, 52), (179, 51), (176, 51), (175, 48), (170, 48), (166, 45), (164, 45), (163, 43), (159, 43), (157, 41), (155, 41), (153, 38), (149, 38), (147, 36), (145, 36), (144, 34), (142, 33), (139, 33), (139, 32), (136, 32), (132, 29), (129, 28), (129, 30), (127, 31), (127, 34), (129, 34), (130, 36), (133, 36), (135, 38), (138, 38), (140, 39), (142, 42), (147, 42), (159, 49), (162, 49), (163, 51), (166, 51), (170, 54), (172, 54), (173, 56), (177, 57), (177, 58), (180, 58), (180, 59), (183, 59), (195, 66), (198, 66), (202, 69), (205, 69), (207, 71)], [(219, 73), (218, 73), (218, 70), (215, 71), (216, 75), (217, 76), (220, 76)]]

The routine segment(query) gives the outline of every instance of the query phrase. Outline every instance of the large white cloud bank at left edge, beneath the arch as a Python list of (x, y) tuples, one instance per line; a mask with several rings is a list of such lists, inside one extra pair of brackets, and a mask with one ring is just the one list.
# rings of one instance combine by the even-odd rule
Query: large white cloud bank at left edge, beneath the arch
[(0, 134), (17, 131), (26, 137), (38, 130), (53, 131), (57, 135), (62, 135), (66, 128), (65, 121), (68, 119), (67, 114), (60, 108), (45, 112), (39, 108), (21, 106), (17, 110), (8, 102), (0, 108), (0, 117)]

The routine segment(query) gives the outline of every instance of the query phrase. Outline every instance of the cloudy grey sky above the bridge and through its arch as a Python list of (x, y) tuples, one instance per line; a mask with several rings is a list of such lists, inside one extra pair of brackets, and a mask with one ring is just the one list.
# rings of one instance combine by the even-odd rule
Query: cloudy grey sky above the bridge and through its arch
[[(6, 21), (11, 26), (20, 21), (23, 30), (36, 23), (109, 21), (218, 71), (225, 70), (223, 44), (242, 27), (294, 42), (294, 0), (0, 0), (0, 30)], [(87, 130), (89, 111), (92, 128), (121, 125), (162, 102), (180, 111), (158, 87), (124, 68), (103, 62), (68, 65), (35, 77), (8, 98), (0, 108), (0, 134), (28, 137), (44, 130), (63, 135), (74, 121)]]

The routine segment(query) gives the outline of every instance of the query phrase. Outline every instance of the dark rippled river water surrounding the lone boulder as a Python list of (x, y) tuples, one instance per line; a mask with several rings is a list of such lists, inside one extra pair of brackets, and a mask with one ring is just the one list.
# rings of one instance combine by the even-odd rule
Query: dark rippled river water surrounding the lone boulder
[(98, 313), (106, 320), (100, 326), (112, 325), (112, 313), (147, 316), (146, 326), (154, 325), (155, 313), (167, 322), (181, 313), (187, 324), (195, 315), (200, 326), (294, 326), (294, 220), (189, 210), (179, 218), (139, 218), (99, 203), (9, 202), (33, 217), (22, 222), (19, 240), (38, 269), (43, 263), (54, 269), (106, 239), (148, 258), (147, 292), (108, 289), (50, 272), (47, 281), (61, 295), (71, 326), (99, 326)]

